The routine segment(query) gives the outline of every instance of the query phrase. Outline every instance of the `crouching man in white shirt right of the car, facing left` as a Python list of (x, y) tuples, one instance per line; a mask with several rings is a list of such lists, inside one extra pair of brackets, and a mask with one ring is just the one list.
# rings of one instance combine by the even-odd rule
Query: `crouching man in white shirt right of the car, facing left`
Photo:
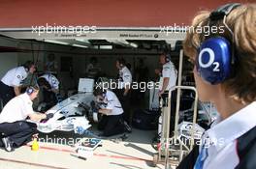
[[(110, 90), (96, 87), (93, 91), (96, 101), (100, 104), (99, 113), (103, 114), (98, 129), (103, 130), (101, 136), (112, 136), (125, 131), (127, 124), (123, 121), (123, 109), (120, 101)], [(129, 128), (126, 129), (129, 131)]]

